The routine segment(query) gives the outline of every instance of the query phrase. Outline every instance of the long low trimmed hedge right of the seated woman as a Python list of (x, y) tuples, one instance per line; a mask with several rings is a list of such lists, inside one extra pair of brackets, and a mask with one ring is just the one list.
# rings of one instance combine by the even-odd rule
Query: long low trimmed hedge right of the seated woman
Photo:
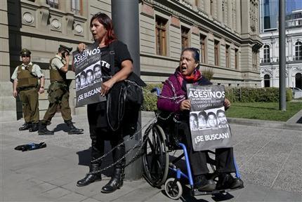
[[(225, 97), (230, 102), (279, 102), (279, 88), (225, 88)], [(289, 88), (286, 100), (292, 100)]]

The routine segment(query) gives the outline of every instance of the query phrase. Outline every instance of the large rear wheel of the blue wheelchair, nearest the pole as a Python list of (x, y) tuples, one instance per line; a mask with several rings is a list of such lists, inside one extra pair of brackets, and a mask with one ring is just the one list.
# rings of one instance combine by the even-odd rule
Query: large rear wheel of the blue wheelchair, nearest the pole
[(143, 141), (143, 175), (153, 187), (161, 187), (169, 170), (169, 153), (164, 130), (157, 124), (150, 125)]

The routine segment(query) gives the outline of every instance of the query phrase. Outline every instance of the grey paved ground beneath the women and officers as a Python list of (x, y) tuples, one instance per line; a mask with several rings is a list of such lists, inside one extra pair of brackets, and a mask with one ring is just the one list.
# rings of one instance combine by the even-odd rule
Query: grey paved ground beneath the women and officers
[[(301, 117), (298, 114), (286, 124), (230, 120), (245, 188), (196, 197), (185, 189), (178, 201), (302, 201), (302, 124), (294, 121)], [(143, 179), (126, 180), (122, 189), (102, 194), (101, 187), (110, 179), (108, 172), (100, 182), (77, 187), (77, 180), (88, 171), (91, 142), (86, 116), (73, 118), (75, 126), (84, 128), (84, 135), (67, 135), (60, 117), (48, 127), (55, 130), (50, 136), (19, 131), (22, 120), (1, 123), (0, 201), (173, 201), (163, 189), (151, 187)], [(143, 113), (142, 126), (150, 119), (152, 114)], [(29, 142), (46, 142), (47, 147), (30, 152), (13, 149)]]

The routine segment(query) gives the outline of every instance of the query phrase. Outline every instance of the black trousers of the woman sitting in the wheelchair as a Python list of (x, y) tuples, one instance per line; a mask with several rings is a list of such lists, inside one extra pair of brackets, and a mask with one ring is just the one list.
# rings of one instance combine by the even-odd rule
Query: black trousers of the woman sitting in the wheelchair
[[(195, 152), (193, 150), (189, 123), (176, 123), (176, 130), (180, 141), (187, 147), (192, 174), (202, 175), (209, 173), (209, 169), (206, 166), (206, 151)], [(232, 147), (216, 149), (215, 153), (216, 170), (218, 173), (236, 172)]]

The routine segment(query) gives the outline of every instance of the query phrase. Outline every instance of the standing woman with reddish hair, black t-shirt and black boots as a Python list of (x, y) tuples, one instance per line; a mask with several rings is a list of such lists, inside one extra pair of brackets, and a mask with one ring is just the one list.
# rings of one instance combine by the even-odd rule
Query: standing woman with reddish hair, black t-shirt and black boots
[[(112, 20), (105, 13), (97, 13), (93, 15), (90, 21), (91, 34), (94, 41), (98, 43), (101, 51), (101, 70), (103, 76), (113, 76), (110, 79), (103, 79), (100, 95), (107, 96), (114, 83), (124, 81), (129, 74), (133, 72), (132, 59), (126, 44), (117, 40), (114, 34)], [(110, 47), (114, 50), (114, 67), (111, 67), (110, 62)], [(85, 48), (85, 44), (79, 44), (78, 49), (81, 51)], [(89, 131), (91, 137), (91, 166), (90, 173), (84, 179), (77, 182), (77, 186), (86, 186), (101, 180), (100, 173), (91, 174), (91, 172), (100, 170), (101, 161), (96, 161), (104, 154), (104, 140), (110, 140), (110, 144), (116, 147), (124, 141), (123, 127), (113, 131), (107, 121), (107, 103), (98, 102), (87, 105)], [(120, 120), (122, 121), (122, 120)], [(123, 123), (122, 123), (123, 126)], [(125, 145), (122, 143), (113, 150), (113, 162), (117, 162), (125, 154)], [(111, 193), (123, 185), (124, 180), (124, 166), (126, 160), (122, 159), (114, 166), (111, 180), (102, 188), (103, 193)]]

